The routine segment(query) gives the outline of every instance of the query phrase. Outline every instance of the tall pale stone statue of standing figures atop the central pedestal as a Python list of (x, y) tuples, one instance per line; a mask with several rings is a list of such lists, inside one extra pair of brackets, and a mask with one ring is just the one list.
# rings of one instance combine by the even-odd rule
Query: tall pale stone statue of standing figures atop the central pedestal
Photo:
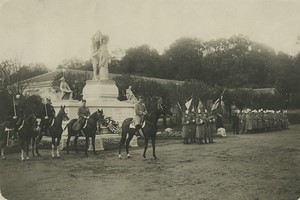
[(92, 38), (93, 80), (108, 80), (109, 37), (98, 31)]

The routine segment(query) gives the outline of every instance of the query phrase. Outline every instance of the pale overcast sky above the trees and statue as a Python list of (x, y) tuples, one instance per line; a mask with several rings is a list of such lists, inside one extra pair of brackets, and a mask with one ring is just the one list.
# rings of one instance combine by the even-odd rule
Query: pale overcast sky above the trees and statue
[(97, 30), (109, 35), (109, 51), (149, 44), (162, 52), (182, 36), (207, 41), (244, 34), (276, 51), (295, 54), (298, 2), (0, 0), (0, 59), (18, 57), (51, 69), (66, 58), (87, 60), (90, 38)]

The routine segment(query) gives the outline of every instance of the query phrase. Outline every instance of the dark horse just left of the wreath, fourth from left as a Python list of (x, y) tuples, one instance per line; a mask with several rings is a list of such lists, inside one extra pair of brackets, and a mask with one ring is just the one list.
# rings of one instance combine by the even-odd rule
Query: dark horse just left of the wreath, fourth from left
[[(75, 131), (73, 130), (73, 125), (76, 122), (77, 119), (72, 119), (66, 127), (68, 127), (68, 139), (67, 139), (67, 153), (69, 153), (69, 143), (70, 143), (70, 138), (72, 136), (75, 136), (74, 138), (74, 146), (75, 146), (75, 151), (78, 153), (77, 149), (77, 141), (78, 137), (80, 135), (80, 131)], [(92, 138), (92, 145), (93, 145), (93, 152), (96, 155), (95, 151), (95, 138), (96, 138), (96, 131), (97, 131), (97, 123), (101, 122), (103, 123), (104, 121), (104, 115), (103, 115), (103, 110), (97, 110), (94, 112), (87, 120), (86, 123), (83, 127), (83, 132), (85, 134), (85, 155), (88, 156), (88, 148), (89, 148), (89, 139), (90, 137)], [(64, 128), (64, 130), (66, 129)]]

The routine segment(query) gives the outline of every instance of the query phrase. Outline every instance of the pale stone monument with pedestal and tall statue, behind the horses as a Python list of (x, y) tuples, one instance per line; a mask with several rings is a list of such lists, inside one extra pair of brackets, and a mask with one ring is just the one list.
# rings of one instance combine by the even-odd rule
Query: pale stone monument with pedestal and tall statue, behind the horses
[[(119, 94), (118, 88), (115, 82), (109, 79), (109, 54), (107, 48), (109, 37), (98, 31), (93, 35), (91, 40), (93, 79), (86, 81), (86, 85), (82, 91), (83, 99), (86, 100), (86, 105), (89, 107), (91, 113), (95, 112), (97, 109), (103, 109), (105, 117), (111, 117), (121, 126), (123, 120), (134, 116), (134, 105), (132, 103), (119, 101), (117, 99)], [(57, 111), (60, 108), (60, 105), (66, 105), (70, 119), (78, 118), (77, 110), (80, 107), (80, 102), (75, 100), (58, 100), (53, 102), (53, 105)], [(66, 133), (64, 133), (64, 136), (65, 135)], [(96, 149), (103, 150), (103, 139), (119, 140), (120, 137), (120, 135), (116, 134), (97, 135)], [(65, 145), (66, 139), (66, 137), (62, 138), (62, 147)], [(136, 137), (133, 138), (130, 145), (137, 146)]]

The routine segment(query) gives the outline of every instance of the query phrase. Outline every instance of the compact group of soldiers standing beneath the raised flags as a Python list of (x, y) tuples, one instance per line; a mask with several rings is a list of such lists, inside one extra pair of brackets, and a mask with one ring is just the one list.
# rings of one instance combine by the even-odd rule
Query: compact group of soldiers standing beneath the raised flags
[(204, 112), (198, 109), (186, 110), (182, 117), (182, 138), (183, 144), (207, 144), (213, 143), (213, 136), (216, 133), (216, 117), (207, 110)]

